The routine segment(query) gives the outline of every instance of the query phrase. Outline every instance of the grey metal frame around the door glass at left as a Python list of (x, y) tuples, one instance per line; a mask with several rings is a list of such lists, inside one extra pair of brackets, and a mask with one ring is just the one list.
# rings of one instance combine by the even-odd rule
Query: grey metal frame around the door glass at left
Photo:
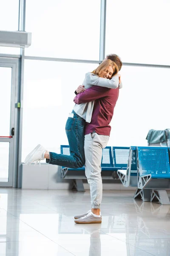
[[(0, 67), (11, 67), (11, 120), (10, 131), (14, 127), (13, 138), (1, 138), (1, 142), (9, 142), (9, 175), (8, 182), (0, 182), (0, 187), (17, 187), (17, 154), (18, 154), (18, 128), (19, 128), (19, 102), (20, 92), (20, 58), (0, 57)], [(14, 96), (13, 96), (14, 95)], [(2, 136), (5, 134), (2, 134)]]

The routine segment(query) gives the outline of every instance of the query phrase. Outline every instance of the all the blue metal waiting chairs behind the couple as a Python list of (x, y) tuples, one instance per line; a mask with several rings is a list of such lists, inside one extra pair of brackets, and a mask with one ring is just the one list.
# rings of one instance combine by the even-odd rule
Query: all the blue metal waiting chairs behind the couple
[[(166, 192), (170, 188), (169, 152), (168, 147), (106, 147), (102, 152), (102, 179), (115, 179), (117, 174), (123, 186), (136, 187), (134, 198), (170, 204)], [(61, 145), (61, 153), (69, 155), (69, 146)], [(61, 170), (62, 178), (72, 179), (73, 186), (84, 191), (84, 166)]]

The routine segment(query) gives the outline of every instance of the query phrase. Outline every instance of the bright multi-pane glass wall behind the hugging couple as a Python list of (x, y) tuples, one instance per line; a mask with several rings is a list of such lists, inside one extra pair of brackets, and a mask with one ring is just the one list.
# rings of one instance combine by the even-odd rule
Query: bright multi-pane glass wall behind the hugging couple
[[(170, 1), (106, 2), (103, 50), (118, 54), (124, 63), (109, 145), (147, 145), (150, 129), (170, 128), (170, 68), (163, 66), (170, 65)], [(17, 30), (19, 0), (3, 1), (2, 6), (0, 29)], [(26, 1), (32, 44), (25, 49), (23, 160), (38, 143), (57, 152), (68, 144), (65, 122), (74, 91), (99, 64), (100, 8), (100, 0)], [(1, 53), (20, 54), (20, 49), (0, 47)]]

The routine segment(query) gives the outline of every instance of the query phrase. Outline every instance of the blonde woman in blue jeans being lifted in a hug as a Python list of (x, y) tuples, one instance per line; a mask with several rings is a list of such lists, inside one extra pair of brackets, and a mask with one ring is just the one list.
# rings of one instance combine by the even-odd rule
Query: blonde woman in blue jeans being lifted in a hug
[[(121, 88), (122, 85), (119, 85), (118, 71), (119, 69), (116, 63), (110, 59), (106, 59), (93, 72), (85, 74), (85, 79), (82, 85), (85, 86), (85, 89), (93, 85), (112, 89), (116, 89), (118, 86)], [(69, 168), (82, 167), (85, 164), (85, 123), (91, 122), (93, 107), (94, 101), (79, 105), (76, 104), (72, 113), (69, 113), (69, 117), (65, 125), (65, 131), (70, 146), (70, 155), (49, 152), (39, 144), (33, 151), (31, 151), (30, 154), (28, 154), (25, 163), (30, 165), (35, 162), (36, 164), (38, 161), (40, 162), (40, 160), (44, 160), (46, 158), (46, 163)]]

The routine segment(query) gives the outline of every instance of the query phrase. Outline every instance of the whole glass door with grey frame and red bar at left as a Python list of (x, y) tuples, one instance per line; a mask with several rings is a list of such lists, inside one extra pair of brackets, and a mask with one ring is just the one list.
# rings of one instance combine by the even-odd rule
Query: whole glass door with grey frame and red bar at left
[(18, 59), (0, 58), (0, 187), (16, 182), (18, 65)]

